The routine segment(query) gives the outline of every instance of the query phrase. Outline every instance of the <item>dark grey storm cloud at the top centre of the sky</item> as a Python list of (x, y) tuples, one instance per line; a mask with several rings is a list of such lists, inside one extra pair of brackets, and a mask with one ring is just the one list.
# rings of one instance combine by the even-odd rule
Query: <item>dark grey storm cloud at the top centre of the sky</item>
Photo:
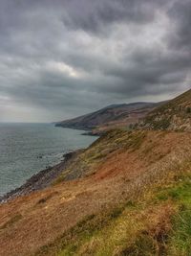
[(101, 30), (104, 25), (126, 21), (144, 24), (153, 21), (155, 8), (165, 1), (139, 0), (72, 0), (68, 2), (67, 14), (63, 22), (73, 29), (82, 29), (90, 32)]

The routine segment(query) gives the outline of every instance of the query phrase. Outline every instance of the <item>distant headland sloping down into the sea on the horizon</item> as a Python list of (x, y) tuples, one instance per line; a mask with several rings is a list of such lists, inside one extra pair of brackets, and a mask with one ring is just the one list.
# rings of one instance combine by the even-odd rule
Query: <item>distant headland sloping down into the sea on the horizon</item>
[(108, 129), (118, 126), (128, 126), (138, 122), (149, 111), (161, 103), (132, 103), (122, 105), (109, 105), (96, 112), (86, 114), (74, 119), (65, 120), (55, 124), (57, 127), (77, 129)]

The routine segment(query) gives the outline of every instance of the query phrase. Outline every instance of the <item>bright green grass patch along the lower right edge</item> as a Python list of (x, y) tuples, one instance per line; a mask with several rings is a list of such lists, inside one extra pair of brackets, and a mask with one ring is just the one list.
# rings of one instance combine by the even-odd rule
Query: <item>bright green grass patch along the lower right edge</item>
[(191, 255), (191, 177), (181, 176), (177, 185), (163, 189), (158, 200), (172, 200), (179, 211), (172, 217), (172, 232), (166, 255)]

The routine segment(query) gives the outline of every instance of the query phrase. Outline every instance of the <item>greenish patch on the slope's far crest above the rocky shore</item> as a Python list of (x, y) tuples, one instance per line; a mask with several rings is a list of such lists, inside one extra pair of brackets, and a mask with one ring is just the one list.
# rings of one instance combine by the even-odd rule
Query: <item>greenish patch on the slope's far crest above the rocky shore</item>
[(87, 150), (77, 155), (54, 184), (64, 180), (85, 177), (96, 173), (97, 169), (116, 151), (136, 151), (146, 137), (146, 131), (113, 129), (96, 140)]

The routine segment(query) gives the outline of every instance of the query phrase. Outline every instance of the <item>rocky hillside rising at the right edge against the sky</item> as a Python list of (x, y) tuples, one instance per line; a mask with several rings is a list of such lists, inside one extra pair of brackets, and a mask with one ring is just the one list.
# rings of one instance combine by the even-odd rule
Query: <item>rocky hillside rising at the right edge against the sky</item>
[(151, 111), (139, 127), (191, 131), (191, 89)]

